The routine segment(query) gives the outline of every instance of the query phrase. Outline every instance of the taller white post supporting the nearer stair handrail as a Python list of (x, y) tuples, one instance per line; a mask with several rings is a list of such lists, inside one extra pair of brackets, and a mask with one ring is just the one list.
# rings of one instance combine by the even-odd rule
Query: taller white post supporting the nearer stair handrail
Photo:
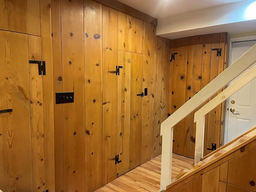
[(160, 191), (166, 190), (172, 179), (172, 141), (173, 127), (165, 129), (162, 133), (162, 162), (161, 162), (161, 182)]

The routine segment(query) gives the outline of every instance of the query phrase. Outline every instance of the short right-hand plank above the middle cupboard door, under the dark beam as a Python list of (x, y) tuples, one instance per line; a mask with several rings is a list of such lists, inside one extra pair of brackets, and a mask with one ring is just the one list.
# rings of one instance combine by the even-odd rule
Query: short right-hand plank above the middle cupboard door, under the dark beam
[(144, 50), (144, 21), (132, 17), (131, 52), (143, 54)]

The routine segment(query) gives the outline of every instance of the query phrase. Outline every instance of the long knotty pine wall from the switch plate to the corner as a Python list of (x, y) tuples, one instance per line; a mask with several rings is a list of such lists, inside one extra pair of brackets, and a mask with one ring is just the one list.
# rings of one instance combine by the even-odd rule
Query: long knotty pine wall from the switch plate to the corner
[(91, 192), (161, 153), (170, 40), (92, 0), (51, 9), (54, 93), (74, 91), (74, 103), (54, 105), (55, 191)]

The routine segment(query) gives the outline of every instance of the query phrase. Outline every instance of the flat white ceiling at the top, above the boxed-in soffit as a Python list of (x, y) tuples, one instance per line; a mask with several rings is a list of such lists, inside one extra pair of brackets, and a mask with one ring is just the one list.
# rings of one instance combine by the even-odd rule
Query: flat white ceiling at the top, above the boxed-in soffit
[(244, 0), (118, 0), (154, 18), (164, 18), (203, 8)]

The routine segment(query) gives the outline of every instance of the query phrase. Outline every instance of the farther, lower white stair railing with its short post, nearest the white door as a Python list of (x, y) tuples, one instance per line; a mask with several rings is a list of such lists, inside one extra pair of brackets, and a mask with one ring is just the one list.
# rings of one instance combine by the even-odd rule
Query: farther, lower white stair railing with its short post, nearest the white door
[(216, 106), (224, 102), (227, 98), (229, 98), (232, 94), (240, 90), (243, 86), (245, 86), (248, 82), (253, 80), (256, 77), (256, 66), (252, 67), (248, 72), (243, 74), (240, 78), (238, 78), (234, 83), (232, 83), (228, 88), (218, 94), (215, 98), (213, 98), (210, 102), (208, 102), (205, 106), (200, 108), (195, 113), (194, 122), (196, 122), (196, 150), (195, 150), (195, 164), (200, 162), (200, 159), (203, 158), (203, 143), (204, 143), (204, 119), (205, 115), (214, 109)]

